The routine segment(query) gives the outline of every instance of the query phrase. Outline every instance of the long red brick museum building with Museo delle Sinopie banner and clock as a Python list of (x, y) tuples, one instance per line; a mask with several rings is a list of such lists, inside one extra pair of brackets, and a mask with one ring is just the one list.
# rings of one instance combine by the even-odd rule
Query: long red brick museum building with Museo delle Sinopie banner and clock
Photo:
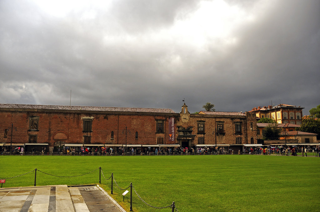
[(255, 114), (171, 109), (0, 104), (0, 146), (230, 146), (257, 144)]

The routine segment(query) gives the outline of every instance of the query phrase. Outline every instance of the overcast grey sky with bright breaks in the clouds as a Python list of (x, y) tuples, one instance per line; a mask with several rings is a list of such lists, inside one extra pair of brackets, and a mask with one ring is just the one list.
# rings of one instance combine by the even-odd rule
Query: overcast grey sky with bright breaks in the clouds
[(0, 103), (320, 104), (319, 0), (0, 0)]

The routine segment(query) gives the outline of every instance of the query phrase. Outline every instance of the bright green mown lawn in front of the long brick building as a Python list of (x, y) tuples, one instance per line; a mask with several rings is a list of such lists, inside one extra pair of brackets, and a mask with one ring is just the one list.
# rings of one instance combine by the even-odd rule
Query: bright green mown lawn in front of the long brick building
[[(75, 176), (101, 169), (108, 179), (113, 172), (121, 188), (132, 182), (148, 204), (168, 206), (175, 201), (187, 211), (320, 211), (319, 157), (274, 155), (182, 156), (0, 156), (0, 178), (17, 176), (37, 168), (53, 175)], [(4, 187), (33, 186), (34, 172), (6, 180)], [(99, 170), (61, 178), (37, 171), (36, 185), (99, 184)], [(111, 195), (127, 211), (113, 183)], [(101, 175), (101, 187), (111, 193), (111, 180)], [(143, 203), (133, 192), (133, 211), (171, 211)]]

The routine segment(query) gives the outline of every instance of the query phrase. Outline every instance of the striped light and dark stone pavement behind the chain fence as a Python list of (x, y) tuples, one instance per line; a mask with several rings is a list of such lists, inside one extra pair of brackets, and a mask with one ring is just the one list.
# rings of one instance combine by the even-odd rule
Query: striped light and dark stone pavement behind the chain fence
[(1, 212), (125, 212), (99, 186), (0, 188)]

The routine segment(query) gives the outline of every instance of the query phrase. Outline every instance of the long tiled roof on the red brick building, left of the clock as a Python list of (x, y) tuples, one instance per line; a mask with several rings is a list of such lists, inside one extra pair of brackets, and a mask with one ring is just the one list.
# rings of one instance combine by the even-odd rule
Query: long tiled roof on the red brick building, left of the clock
[(87, 110), (87, 111), (116, 111), (116, 112), (149, 112), (174, 113), (172, 109), (161, 108), (119, 108), (95, 106), (66, 106), (66, 105), (38, 105), (38, 104), (1, 104), (0, 108), (10, 109), (37, 109), (37, 110)]

